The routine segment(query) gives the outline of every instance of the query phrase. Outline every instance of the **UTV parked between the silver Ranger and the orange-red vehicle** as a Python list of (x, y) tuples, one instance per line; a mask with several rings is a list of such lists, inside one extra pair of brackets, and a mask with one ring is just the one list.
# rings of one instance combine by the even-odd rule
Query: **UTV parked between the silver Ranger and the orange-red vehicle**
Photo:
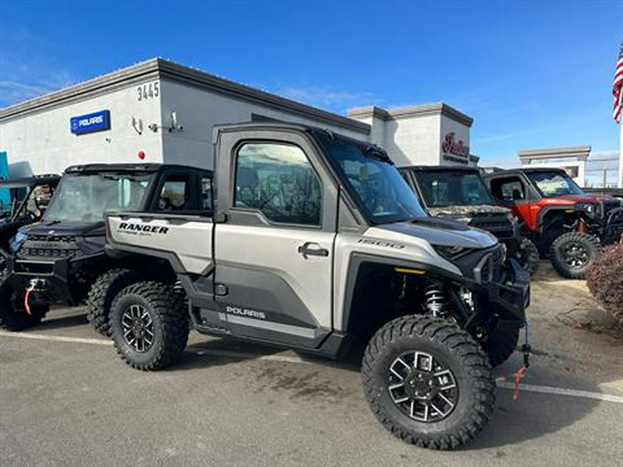
[(491, 232), (505, 244), (510, 257), (531, 274), (536, 272), (539, 250), (521, 235), (512, 210), (496, 203), (478, 167), (419, 165), (399, 170), (431, 216)]

